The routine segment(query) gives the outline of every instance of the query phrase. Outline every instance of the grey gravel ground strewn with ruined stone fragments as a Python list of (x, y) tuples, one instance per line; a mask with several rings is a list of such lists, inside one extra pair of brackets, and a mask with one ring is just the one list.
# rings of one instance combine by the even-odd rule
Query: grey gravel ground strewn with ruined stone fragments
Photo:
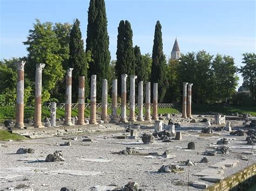
[[(242, 122), (236, 121), (235, 125), (239, 125)], [(156, 140), (152, 145), (146, 144), (132, 144), (122, 145), (117, 143), (138, 142), (141, 139), (114, 139), (114, 136), (129, 135), (129, 133), (123, 132), (98, 132), (87, 135), (69, 135), (69, 137), (79, 136), (77, 140), (70, 140), (72, 146), (55, 146), (56, 143), (64, 143), (66, 140), (62, 140), (63, 137), (48, 137), (41, 139), (23, 140), (22, 142), (8, 142), (8, 147), (0, 147), (0, 175), (5, 174), (22, 174), (23, 176), (13, 179), (0, 179), (0, 189), (8, 187), (19, 187), (22, 184), (33, 188), (35, 190), (60, 190), (63, 186), (70, 186), (77, 190), (90, 190), (91, 187), (96, 185), (117, 185), (122, 187), (129, 181), (136, 181), (139, 184), (139, 188), (147, 190), (187, 190), (188, 169), (190, 170), (190, 181), (202, 181), (199, 180), (199, 176), (194, 176), (194, 173), (207, 168), (219, 161), (225, 159), (238, 159), (239, 164), (232, 168), (224, 169), (224, 176), (231, 175), (248, 165), (253, 164), (256, 161), (256, 156), (251, 155), (250, 161), (240, 159), (240, 155), (244, 151), (251, 151), (251, 149), (233, 148), (233, 152), (230, 154), (217, 154), (216, 156), (207, 156), (208, 163), (200, 163), (199, 161), (204, 156), (201, 153), (206, 150), (211, 150), (207, 146), (211, 143), (216, 143), (220, 138), (234, 138), (231, 140), (230, 146), (247, 146), (245, 137), (230, 136), (227, 132), (218, 133), (214, 137), (201, 137), (197, 132), (189, 132), (187, 129), (199, 130), (206, 126), (206, 123), (187, 123), (181, 124), (181, 131), (183, 132), (182, 140), (173, 140), (171, 143), (163, 143), (161, 140)], [(139, 131), (139, 135), (144, 132), (152, 132), (153, 129), (142, 129)], [(93, 138), (93, 142), (82, 142), (82, 136), (88, 136)], [(179, 147), (187, 147), (188, 142), (196, 143), (196, 150), (185, 151), (180, 150)], [(14, 154), (18, 148), (33, 148), (35, 153), (33, 154)], [(173, 154), (177, 155), (174, 159), (160, 159), (145, 158), (142, 155), (119, 155), (113, 154), (124, 150), (126, 147), (144, 147), (143, 150), (138, 150), (140, 153), (158, 152), (162, 154), (164, 151), (169, 150)], [(62, 150), (64, 162), (36, 162), (36, 161), (24, 161), (25, 158), (46, 158), (49, 153), (56, 150)], [(254, 150), (255, 151), (255, 150)], [(248, 157), (249, 155), (247, 155)], [(111, 162), (90, 162), (79, 160), (79, 158), (99, 158), (110, 159)], [(188, 168), (180, 161), (191, 159), (197, 162), (196, 166)], [(161, 165), (176, 164), (184, 168), (185, 173), (157, 173)], [(46, 168), (43, 172), (10, 172), (6, 168), (26, 166)], [(57, 169), (72, 169), (80, 171), (97, 171), (100, 174), (93, 176), (77, 176), (69, 174), (51, 174), (46, 173)], [(210, 185), (210, 182), (207, 182)], [(24, 186), (23, 185), (23, 186)], [(196, 190), (193, 187), (189, 187), (190, 190)]]

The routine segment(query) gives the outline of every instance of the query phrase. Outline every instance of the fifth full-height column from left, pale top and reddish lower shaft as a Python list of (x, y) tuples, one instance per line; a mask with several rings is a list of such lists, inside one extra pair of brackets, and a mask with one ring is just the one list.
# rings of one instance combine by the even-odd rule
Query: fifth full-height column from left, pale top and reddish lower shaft
[(90, 124), (96, 122), (96, 75), (91, 76), (91, 107), (90, 107)]

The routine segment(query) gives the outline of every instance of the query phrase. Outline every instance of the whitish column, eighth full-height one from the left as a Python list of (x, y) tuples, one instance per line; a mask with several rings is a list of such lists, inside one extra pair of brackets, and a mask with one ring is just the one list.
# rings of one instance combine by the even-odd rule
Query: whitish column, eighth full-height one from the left
[(127, 78), (127, 74), (122, 74), (122, 95), (121, 95), (121, 118), (120, 118), (120, 122), (127, 122), (127, 119), (126, 119), (126, 78)]

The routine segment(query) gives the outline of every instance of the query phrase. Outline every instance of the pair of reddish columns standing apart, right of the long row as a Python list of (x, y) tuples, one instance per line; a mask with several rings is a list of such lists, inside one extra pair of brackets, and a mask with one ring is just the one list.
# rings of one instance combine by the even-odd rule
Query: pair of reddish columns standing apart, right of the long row
[(183, 118), (191, 118), (191, 95), (193, 83), (183, 82), (183, 102), (182, 116)]

